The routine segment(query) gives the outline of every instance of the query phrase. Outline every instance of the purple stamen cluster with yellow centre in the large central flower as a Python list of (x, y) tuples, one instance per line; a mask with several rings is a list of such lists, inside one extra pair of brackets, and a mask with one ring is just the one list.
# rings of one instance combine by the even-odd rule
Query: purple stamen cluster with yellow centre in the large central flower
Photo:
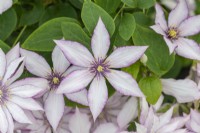
[(106, 72), (110, 72), (108, 62), (105, 62), (102, 59), (98, 59), (92, 63), (92, 67), (90, 68), (92, 73), (95, 73), (97, 76), (105, 76)]

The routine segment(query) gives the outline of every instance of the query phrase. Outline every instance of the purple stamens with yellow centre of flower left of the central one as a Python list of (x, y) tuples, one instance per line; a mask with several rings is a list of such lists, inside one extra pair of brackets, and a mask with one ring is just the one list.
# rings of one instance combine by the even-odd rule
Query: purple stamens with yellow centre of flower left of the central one
[(62, 74), (54, 73), (54, 72), (51, 75), (49, 75), (49, 77), (47, 78), (51, 89), (57, 89), (62, 79), (63, 79)]

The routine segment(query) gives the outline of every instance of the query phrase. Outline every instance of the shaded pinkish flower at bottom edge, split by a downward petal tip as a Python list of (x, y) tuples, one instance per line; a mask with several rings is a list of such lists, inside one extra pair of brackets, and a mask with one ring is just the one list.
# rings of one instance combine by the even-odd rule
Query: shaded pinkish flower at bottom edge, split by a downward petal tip
[(70, 133), (69, 132), (69, 119), (71, 118), (74, 111), (70, 107), (65, 107), (58, 128), (53, 130), (51, 124), (46, 118), (44, 112), (32, 111), (29, 113), (29, 117), (32, 118), (32, 124), (15, 124), (15, 130), (19, 133)]

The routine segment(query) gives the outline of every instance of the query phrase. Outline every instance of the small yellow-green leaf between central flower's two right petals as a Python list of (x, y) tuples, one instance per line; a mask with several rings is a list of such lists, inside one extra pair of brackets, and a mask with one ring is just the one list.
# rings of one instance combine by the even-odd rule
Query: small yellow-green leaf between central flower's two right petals
[(138, 73), (140, 71), (140, 62), (136, 62), (129, 67), (122, 68), (123, 71), (130, 73), (134, 79), (137, 79)]

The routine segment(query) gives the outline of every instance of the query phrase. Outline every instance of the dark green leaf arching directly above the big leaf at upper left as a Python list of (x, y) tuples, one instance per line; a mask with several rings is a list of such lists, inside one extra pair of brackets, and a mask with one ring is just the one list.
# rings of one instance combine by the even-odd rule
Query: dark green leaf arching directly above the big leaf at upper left
[(39, 24), (41, 25), (50, 19), (58, 17), (77, 18), (77, 13), (76, 10), (67, 3), (52, 5), (45, 10)]

